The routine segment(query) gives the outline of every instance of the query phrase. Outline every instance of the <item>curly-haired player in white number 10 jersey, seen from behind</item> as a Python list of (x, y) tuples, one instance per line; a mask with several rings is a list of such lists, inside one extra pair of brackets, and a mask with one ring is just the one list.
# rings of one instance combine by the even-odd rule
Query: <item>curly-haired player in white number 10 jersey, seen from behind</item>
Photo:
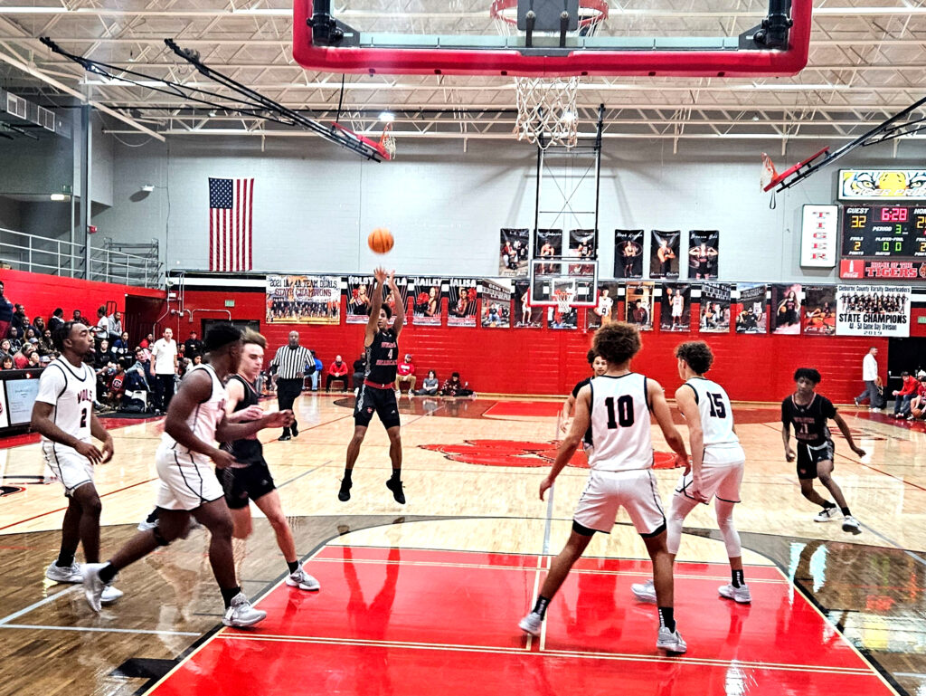
[(641, 348), (640, 334), (629, 323), (609, 323), (594, 335), (594, 352), (607, 361), (607, 372), (583, 386), (576, 398), (576, 414), (563, 439), (550, 474), (540, 484), (540, 499), (572, 458), (585, 431), (592, 428), (594, 451), (589, 455), (591, 474), (572, 517), (572, 533), (544, 579), (540, 595), (519, 627), (540, 635), (546, 608), (569, 575), (569, 569), (597, 532), (608, 533), (623, 507), (644, 539), (653, 560), (658, 595), (657, 648), (685, 652), (675, 626), (672, 597), (672, 562), (666, 549), (666, 517), (652, 473), (653, 443), (650, 413), (656, 417), (669, 447), (680, 462), (687, 462), (685, 443), (672, 424), (662, 387), (642, 374), (632, 373), (631, 360)]

